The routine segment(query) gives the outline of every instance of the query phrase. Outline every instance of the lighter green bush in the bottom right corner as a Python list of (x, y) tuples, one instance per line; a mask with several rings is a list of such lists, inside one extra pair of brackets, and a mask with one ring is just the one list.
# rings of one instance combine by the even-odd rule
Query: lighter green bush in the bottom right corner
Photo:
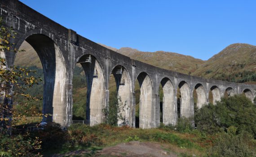
[(255, 157), (256, 143), (248, 133), (229, 135), (221, 133), (215, 140), (215, 145), (209, 149), (210, 157)]

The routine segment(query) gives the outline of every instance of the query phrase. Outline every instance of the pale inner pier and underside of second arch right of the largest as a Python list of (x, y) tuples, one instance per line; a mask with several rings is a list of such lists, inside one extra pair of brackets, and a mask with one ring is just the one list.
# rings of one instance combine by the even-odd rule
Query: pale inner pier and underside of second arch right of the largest
[(115, 78), (117, 87), (117, 94), (119, 96), (119, 105), (121, 105), (121, 112), (123, 119), (118, 119), (118, 126), (128, 125), (132, 126), (132, 94), (131, 94), (131, 79), (128, 71), (123, 65), (116, 65), (111, 71)]

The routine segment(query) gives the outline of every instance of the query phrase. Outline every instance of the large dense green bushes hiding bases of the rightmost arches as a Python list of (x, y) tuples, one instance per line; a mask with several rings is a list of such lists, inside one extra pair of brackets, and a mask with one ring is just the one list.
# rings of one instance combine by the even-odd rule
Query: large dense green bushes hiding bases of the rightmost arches
[(203, 106), (195, 114), (195, 122), (199, 130), (210, 134), (227, 131), (232, 126), (237, 128), (237, 134), (248, 131), (256, 138), (256, 106), (243, 95), (222, 98), (216, 105)]

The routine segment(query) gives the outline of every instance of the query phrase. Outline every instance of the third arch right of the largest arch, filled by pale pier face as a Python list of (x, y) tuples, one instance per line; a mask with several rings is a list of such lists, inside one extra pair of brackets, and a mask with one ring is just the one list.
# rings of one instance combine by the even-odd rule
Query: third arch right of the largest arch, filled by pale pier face
[(154, 106), (152, 100), (153, 85), (149, 75), (141, 72), (137, 76), (141, 95), (140, 95), (140, 115), (139, 127), (142, 129), (154, 126)]

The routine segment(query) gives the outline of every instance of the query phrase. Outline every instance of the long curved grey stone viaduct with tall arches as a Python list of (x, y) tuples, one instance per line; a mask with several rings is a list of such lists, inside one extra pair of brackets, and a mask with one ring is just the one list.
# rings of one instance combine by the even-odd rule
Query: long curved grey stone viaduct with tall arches
[[(51, 19), (22, 4), (18, 0), (0, 1), (2, 24), (17, 32), (12, 43), (18, 49), (27, 41), (37, 52), (44, 70), (43, 113), (53, 116), (44, 121), (54, 121), (69, 126), (72, 120), (72, 78), (76, 63), (81, 63), (87, 78), (87, 119), (90, 125), (103, 122), (102, 109), (108, 104), (108, 82), (114, 74), (122, 104), (124, 121), (135, 126), (135, 81), (138, 79), (141, 128), (159, 126), (159, 85), (163, 87), (163, 123), (177, 123), (177, 89), (180, 88), (180, 115), (194, 115), (193, 90), (197, 92), (197, 105), (213, 103), (224, 96), (245, 93), (253, 101), (256, 85), (202, 79), (170, 70), (157, 68), (105, 48), (67, 29)], [(15, 52), (6, 52), (7, 67), (14, 65)], [(3, 54), (2, 54), (3, 56)]]

